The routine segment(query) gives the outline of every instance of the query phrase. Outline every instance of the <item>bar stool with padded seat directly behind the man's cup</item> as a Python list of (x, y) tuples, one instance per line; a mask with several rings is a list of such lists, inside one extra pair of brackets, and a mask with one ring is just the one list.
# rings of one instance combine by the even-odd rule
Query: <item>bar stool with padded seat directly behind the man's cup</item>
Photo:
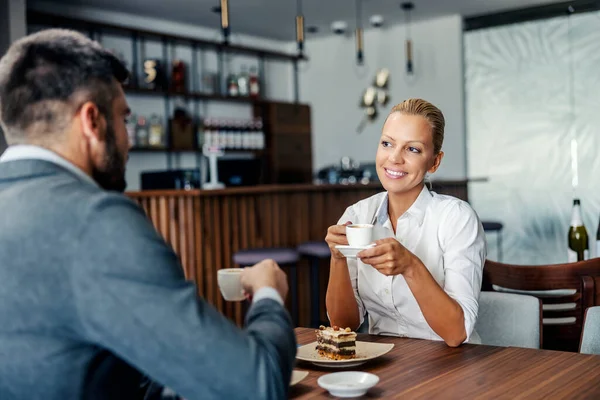
[(290, 269), (290, 295), (292, 297), (292, 320), (298, 323), (298, 272), (296, 265), (300, 256), (298, 252), (290, 247), (277, 248), (254, 248), (239, 250), (233, 254), (233, 262), (240, 267), (250, 267), (265, 259), (272, 259), (280, 266)]

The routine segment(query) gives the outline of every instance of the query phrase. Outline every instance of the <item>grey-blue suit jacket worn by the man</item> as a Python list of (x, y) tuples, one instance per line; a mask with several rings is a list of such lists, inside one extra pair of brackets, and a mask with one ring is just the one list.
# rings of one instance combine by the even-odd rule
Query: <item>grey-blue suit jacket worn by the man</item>
[(143, 375), (188, 399), (287, 396), (285, 309), (240, 330), (197, 297), (144, 212), (62, 167), (0, 163), (0, 399), (133, 399)]

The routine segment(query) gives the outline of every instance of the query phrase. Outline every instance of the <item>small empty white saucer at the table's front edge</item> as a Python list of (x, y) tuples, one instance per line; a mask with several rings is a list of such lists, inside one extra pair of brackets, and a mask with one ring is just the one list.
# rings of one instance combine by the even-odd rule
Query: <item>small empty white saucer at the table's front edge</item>
[(336, 397), (359, 397), (377, 385), (379, 377), (368, 372), (347, 371), (323, 375), (317, 384)]

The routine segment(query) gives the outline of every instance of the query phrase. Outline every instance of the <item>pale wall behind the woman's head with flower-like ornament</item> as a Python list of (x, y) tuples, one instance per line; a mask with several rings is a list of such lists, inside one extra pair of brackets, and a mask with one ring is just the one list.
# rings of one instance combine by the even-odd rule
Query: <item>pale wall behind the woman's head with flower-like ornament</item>
[[(364, 68), (356, 66), (353, 36), (331, 35), (307, 42), (310, 62), (301, 66), (300, 98), (312, 106), (315, 169), (337, 163), (342, 156), (373, 162), (389, 109), (404, 99), (421, 97), (446, 117), (446, 155), (433, 178), (466, 178), (462, 18), (453, 15), (419, 22), (411, 31), (416, 71), (412, 82), (405, 75), (402, 25), (365, 32)], [(391, 102), (357, 135), (362, 118), (359, 98), (382, 67), (391, 71)]]

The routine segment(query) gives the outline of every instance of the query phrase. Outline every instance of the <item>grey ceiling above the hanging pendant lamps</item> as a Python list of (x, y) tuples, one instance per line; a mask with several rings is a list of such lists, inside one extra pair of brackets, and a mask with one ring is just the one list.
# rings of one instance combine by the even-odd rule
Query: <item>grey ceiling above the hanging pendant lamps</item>
[[(473, 16), (564, 0), (413, 0), (413, 20), (448, 14)], [(211, 8), (218, 0), (60, 0), (68, 5), (91, 6), (110, 11), (135, 13), (147, 17), (169, 19), (206, 27), (219, 27), (219, 16)], [(362, 0), (363, 24), (369, 17), (381, 14), (385, 24), (404, 21), (402, 0)], [(320, 34), (330, 32), (331, 23), (345, 20), (355, 26), (354, 0), (302, 0), (306, 26), (316, 26)], [(230, 25), (234, 33), (246, 33), (272, 39), (294, 40), (296, 0), (229, 0)]]

